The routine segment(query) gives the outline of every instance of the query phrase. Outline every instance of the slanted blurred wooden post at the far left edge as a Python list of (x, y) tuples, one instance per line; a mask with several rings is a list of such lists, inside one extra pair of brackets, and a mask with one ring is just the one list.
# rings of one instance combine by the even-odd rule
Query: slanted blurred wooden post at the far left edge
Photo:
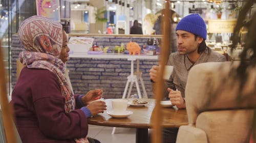
[(15, 143), (17, 142), (15, 133), (14, 133), (14, 126), (13, 126), (13, 119), (12, 119), (12, 106), (8, 103), (7, 99), (7, 92), (6, 92), (6, 80), (5, 80), (5, 65), (3, 62), (3, 53), (1, 48), (1, 41), (0, 41), (0, 104), (2, 108), (2, 115), (3, 115), (3, 123), (5, 129), (5, 136), (7, 143)]

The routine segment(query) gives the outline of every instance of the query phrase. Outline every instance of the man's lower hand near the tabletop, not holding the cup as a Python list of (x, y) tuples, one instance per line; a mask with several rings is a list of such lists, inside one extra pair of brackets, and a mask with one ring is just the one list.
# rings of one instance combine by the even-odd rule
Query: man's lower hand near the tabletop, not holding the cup
[(173, 105), (176, 105), (179, 109), (186, 108), (185, 100), (182, 98), (180, 91), (174, 91), (170, 88), (167, 89), (169, 92), (169, 98)]

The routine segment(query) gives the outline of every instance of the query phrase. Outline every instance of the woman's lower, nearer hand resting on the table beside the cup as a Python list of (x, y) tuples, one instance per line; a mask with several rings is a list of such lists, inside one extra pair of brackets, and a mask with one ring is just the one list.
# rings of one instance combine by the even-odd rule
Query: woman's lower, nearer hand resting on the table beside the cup
[(106, 104), (104, 101), (95, 101), (87, 105), (87, 108), (91, 111), (92, 116), (94, 116), (106, 110)]

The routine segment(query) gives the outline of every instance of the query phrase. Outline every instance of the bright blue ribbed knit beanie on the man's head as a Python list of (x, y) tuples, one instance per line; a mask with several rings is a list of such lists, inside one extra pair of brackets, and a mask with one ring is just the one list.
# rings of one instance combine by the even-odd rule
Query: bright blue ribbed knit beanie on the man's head
[(177, 24), (176, 31), (182, 30), (193, 33), (206, 40), (207, 30), (204, 19), (197, 13), (183, 17)]

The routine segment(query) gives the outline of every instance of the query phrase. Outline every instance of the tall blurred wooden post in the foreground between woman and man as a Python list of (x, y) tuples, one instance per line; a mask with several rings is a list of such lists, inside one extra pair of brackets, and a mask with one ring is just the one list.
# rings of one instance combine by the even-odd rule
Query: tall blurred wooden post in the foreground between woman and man
[(164, 71), (164, 67), (167, 64), (168, 61), (168, 57), (169, 57), (169, 53), (171, 50), (171, 43), (169, 41), (169, 39), (172, 39), (170, 36), (170, 19), (171, 19), (171, 14), (170, 14), (170, 9), (169, 9), (169, 1), (167, 1), (164, 5), (164, 15), (163, 18), (161, 20), (161, 28), (162, 28), (162, 32), (163, 32), (163, 39), (162, 44), (161, 44), (161, 51), (160, 51), (160, 57), (159, 57), (159, 65), (162, 65), (160, 67), (160, 72), (157, 75), (157, 84), (156, 84), (156, 106), (155, 106), (155, 111), (153, 114), (153, 118), (154, 118), (154, 123), (153, 124), (153, 131), (154, 133), (152, 134), (152, 142), (153, 143), (161, 143), (162, 142), (162, 110), (161, 110), (161, 106), (160, 106), (160, 102), (163, 98), (163, 90), (167, 90), (164, 89), (164, 80), (163, 80), (163, 71)]

